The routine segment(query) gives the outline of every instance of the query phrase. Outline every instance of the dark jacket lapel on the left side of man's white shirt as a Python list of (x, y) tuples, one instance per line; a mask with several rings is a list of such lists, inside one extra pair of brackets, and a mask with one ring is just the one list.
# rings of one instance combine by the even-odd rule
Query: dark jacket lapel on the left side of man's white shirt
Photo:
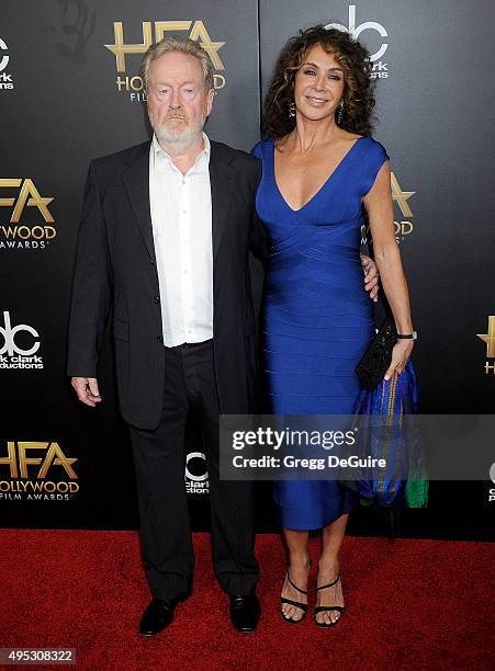
[(125, 191), (148, 254), (156, 262), (149, 205), (149, 143), (140, 145), (128, 162), (122, 178)]

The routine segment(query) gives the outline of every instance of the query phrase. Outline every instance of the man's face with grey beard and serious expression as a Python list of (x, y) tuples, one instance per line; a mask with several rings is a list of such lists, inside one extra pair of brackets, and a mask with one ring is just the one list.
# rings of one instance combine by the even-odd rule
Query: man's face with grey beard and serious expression
[(170, 52), (148, 70), (148, 116), (159, 140), (184, 143), (201, 135), (212, 111), (214, 90), (206, 91), (203, 68), (190, 54)]

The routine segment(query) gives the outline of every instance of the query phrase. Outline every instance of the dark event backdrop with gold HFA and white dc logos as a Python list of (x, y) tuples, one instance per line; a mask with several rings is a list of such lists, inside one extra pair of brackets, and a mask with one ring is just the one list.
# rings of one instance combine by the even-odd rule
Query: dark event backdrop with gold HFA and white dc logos
[[(374, 135), (391, 157), (419, 332), (421, 411), (493, 412), (491, 0), (3, 0), (0, 15), (0, 526), (137, 526), (111, 341), (99, 374), (104, 400), (91, 410), (65, 377), (66, 334), (88, 162), (148, 137), (139, 61), (169, 33), (209, 52), (217, 94), (206, 130), (245, 150), (260, 137), (262, 96), (289, 36), (334, 23), (369, 47)], [(259, 295), (256, 264), (254, 274)], [(466, 458), (475, 448), (466, 445)], [(193, 524), (207, 528), (192, 424), (188, 452)], [(485, 482), (434, 482), (428, 509), (406, 511), (402, 534), (488, 537), (488, 467)], [(259, 530), (273, 528), (269, 487), (257, 501)], [(372, 511), (351, 518), (350, 533), (384, 531)]]

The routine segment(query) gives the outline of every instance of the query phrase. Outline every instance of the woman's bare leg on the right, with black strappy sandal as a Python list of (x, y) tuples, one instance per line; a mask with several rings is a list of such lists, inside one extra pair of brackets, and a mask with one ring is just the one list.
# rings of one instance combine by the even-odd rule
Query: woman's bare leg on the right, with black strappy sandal
[[(346, 533), (349, 513), (340, 515), (335, 522), (325, 526), (322, 532), (322, 556), (318, 561), (318, 578), (316, 587), (328, 584), (337, 578), (339, 570), (339, 551)], [(344, 606), (344, 593), (341, 580), (333, 587), (317, 592), (316, 605), (341, 605)], [(327, 624), (337, 622), (340, 617), (338, 611), (326, 611), (316, 614), (316, 622)]]

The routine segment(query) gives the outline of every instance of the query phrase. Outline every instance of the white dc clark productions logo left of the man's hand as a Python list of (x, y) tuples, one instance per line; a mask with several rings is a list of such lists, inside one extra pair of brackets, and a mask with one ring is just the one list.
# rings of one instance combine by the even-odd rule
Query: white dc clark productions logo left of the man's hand
[[(22, 331), (27, 336), (21, 337)], [(0, 368), (43, 368), (43, 359), (36, 354), (40, 350), (38, 338), (36, 329), (26, 323), (12, 327), (10, 312), (3, 311), (3, 327), (0, 327)]]

